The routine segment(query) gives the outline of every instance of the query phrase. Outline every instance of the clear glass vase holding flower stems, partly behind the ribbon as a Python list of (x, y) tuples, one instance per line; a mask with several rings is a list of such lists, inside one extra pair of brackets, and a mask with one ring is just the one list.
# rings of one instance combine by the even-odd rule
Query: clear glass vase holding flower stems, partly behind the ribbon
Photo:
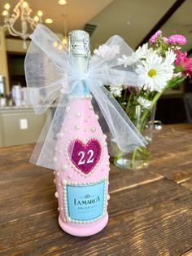
[(149, 111), (137, 105), (132, 109), (130, 119), (137, 127), (137, 130), (142, 133), (148, 145), (146, 148), (137, 147), (133, 152), (124, 154), (124, 152), (120, 152), (120, 150), (117, 149), (116, 143), (111, 143), (113, 153), (116, 155), (116, 157), (114, 157), (114, 164), (116, 166), (124, 169), (142, 169), (148, 166), (151, 155), (150, 143), (153, 139), (155, 108), (156, 105)]

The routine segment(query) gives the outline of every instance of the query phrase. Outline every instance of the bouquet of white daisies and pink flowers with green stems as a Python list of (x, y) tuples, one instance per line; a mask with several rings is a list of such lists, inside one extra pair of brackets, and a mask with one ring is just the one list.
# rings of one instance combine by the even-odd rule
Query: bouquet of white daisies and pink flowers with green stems
[[(150, 143), (151, 135), (146, 130), (153, 128), (155, 104), (159, 97), (174, 86), (177, 86), (192, 74), (192, 59), (181, 51), (186, 39), (182, 35), (171, 35), (165, 38), (159, 30), (148, 43), (139, 46), (132, 55), (122, 55), (119, 63), (131, 67), (141, 78), (142, 85), (110, 85), (109, 90), (124, 108), (133, 124)], [(150, 156), (149, 148), (137, 147), (129, 156), (118, 152), (115, 164), (128, 169), (143, 168)]]

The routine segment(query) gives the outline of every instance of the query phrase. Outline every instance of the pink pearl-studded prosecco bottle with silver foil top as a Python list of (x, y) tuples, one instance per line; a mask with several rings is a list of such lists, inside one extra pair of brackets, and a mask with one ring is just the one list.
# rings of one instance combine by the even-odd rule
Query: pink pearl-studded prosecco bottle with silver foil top
[[(89, 34), (69, 33), (69, 53), (82, 73), (89, 64)], [(94, 112), (88, 86), (80, 82), (69, 96), (57, 135), (55, 170), (59, 225), (74, 236), (91, 236), (107, 225), (109, 155), (107, 136)]]

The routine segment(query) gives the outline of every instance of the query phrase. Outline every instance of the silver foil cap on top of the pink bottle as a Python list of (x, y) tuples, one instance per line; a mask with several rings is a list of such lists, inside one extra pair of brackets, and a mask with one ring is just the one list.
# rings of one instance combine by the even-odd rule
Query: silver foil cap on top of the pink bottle
[(89, 58), (89, 33), (84, 30), (74, 30), (68, 33), (68, 51), (72, 55), (81, 55)]

